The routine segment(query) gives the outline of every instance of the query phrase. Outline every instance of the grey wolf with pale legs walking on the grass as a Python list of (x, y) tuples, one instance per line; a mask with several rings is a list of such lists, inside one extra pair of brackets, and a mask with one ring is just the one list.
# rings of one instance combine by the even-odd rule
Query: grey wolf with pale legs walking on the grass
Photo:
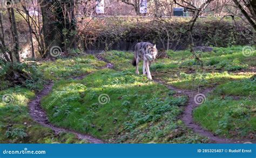
[(134, 58), (132, 65), (136, 66), (136, 73), (139, 74), (139, 61), (143, 60), (143, 74), (147, 74), (148, 79), (152, 79), (150, 73), (151, 62), (157, 57), (157, 47), (149, 42), (139, 42), (134, 48)]

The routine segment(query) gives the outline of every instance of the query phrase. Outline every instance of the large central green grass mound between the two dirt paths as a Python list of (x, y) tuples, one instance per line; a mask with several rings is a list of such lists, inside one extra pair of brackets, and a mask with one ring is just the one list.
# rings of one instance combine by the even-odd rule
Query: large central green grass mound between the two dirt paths
[[(107, 104), (100, 94), (109, 96)], [(146, 77), (105, 69), (81, 81), (57, 81), (42, 104), (55, 125), (111, 142), (201, 142), (178, 119), (186, 101)]]

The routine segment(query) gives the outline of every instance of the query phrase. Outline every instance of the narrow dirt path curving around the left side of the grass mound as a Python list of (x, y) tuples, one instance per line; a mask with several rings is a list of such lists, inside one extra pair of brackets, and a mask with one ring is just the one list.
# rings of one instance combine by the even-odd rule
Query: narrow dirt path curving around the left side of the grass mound
[[(107, 67), (107, 66), (105, 66), (105, 67)], [(73, 79), (80, 80), (80, 79), (83, 79), (85, 76), (86, 75), (82, 75), (79, 77), (74, 77)], [(56, 127), (55, 125), (52, 125), (49, 122), (44, 109), (41, 107), (41, 100), (44, 96), (48, 95), (52, 91), (52, 87), (53, 87), (52, 82), (49, 83), (48, 85), (45, 85), (43, 90), (41, 92), (39, 92), (38, 94), (36, 94), (36, 98), (33, 99), (32, 101), (30, 101), (30, 103), (29, 103), (30, 112), (29, 113), (30, 113), (32, 119), (37, 121), (38, 123), (40, 123), (42, 126), (51, 128), (56, 134), (59, 134), (61, 132), (73, 133), (73, 134), (77, 135), (78, 139), (86, 140), (86, 141), (89, 141), (90, 143), (105, 143), (102, 140), (93, 138), (93, 136), (91, 136), (89, 134), (82, 134), (82, 133), (75, 132), (74, 130)]]

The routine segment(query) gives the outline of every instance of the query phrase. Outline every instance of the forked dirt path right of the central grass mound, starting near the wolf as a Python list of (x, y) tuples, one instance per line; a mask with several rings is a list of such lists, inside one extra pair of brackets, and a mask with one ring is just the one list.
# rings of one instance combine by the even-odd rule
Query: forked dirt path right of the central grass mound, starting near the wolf
[[(157, 83), (163, 84), (167, 86), (170, 90), (176, 91), (179, 94), (187, 95), (188, 96), (188, 103), (185, 107), (185, 110), (183, 112), (183, 115), (181, 116), (181, 120), (185, 123), (185, 125), (188, 128), (191, 128), (195, 133), (198, 133), (200, 135), (206, 136), (208, 140), (211, 143), (245, 143), (245, 142), (252, 142), (252, 140), (235, 140), (235, 139), (227, 139), (227, 138), (221, 138), (220, 136), (214, 135), (210, 131), (204, 129), (200, 125), (198, 125), (193, 120), (193, 110), (200, 106), (200, 104), (197, 104), (195, 101), (195, 98), (197, 94), (203, 94), (204, 96), (207, 95), (207, 93), (210, 93), (213, 91), (213, 88), (207, 88), (206, 90), (202, 90), (201, 92), (197, 91), (190, 91), (190, 90), (180, 90), (176, 87), (173, 87), (171, 85), (166, 85), (163, 81), (155, 80)], [(200, 102), (200, 101), (199, 101)], [(254, 142), (255, 143), (255, 142)]]

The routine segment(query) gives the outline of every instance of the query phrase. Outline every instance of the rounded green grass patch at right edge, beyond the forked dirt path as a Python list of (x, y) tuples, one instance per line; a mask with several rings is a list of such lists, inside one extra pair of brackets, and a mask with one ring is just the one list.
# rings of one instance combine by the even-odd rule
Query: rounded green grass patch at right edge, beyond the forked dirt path
[(216, 87), (194, 118), (215, 134), (255, 137), (256, 84), (252, 79), (230, 81)]

